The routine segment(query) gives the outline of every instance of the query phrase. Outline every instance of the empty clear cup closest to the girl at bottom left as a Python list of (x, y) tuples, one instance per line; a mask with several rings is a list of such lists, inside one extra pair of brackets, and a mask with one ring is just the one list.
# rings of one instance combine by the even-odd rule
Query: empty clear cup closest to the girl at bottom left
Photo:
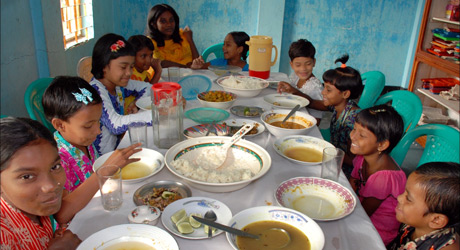
[(121, 169), (116, 165), (103, 165), (96, 170), (105, 210), (118, 210), (123, 204)]

